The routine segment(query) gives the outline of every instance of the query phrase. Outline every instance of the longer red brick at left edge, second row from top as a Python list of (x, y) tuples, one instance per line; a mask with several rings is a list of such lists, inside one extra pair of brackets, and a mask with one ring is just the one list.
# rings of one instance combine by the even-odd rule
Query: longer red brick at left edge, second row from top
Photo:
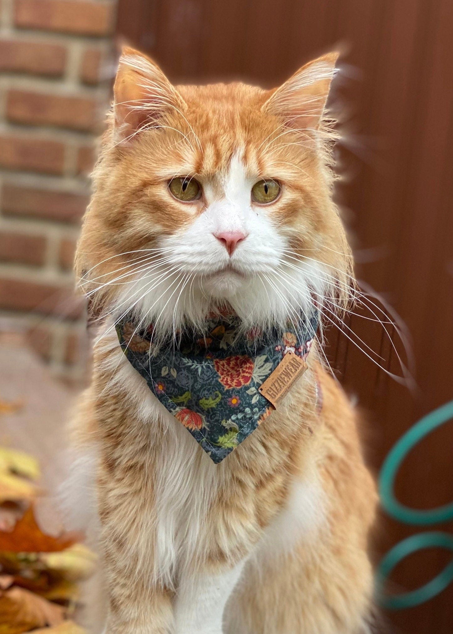
[(60, 44), (0, 40), (0, 70), (61, 77), (66, 49)]

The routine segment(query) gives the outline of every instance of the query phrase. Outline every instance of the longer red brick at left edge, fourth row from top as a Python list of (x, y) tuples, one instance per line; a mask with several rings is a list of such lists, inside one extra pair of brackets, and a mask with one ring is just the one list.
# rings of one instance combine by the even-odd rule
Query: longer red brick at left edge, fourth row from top
[(46, 174), (61, 174), (65, 146), (58, 141), (24, 136), (0, 136), (0, 166)]

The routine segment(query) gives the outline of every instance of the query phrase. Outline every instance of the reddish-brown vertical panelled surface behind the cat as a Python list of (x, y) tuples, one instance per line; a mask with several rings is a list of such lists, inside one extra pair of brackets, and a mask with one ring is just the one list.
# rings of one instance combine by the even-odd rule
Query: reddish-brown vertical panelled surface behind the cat
[[(386, 377), (343, 335), (329, 358), (368, 412), (376, 470), (419, 417), (453, 398), (453, 3), (451, 0), (120, 0), (117, 30), (154, 56), (174, 82), (244, 79), (266, 87), (341, 46), (337, 87), (347, 132), (338, 148), (345, 178), (336, 193), (357, 255), (357, 275), (383, 294), (412, 337), (417, 389)], [(371, 316), (366, 313), (367, 316)], [(398, 371), (383, 327), (350, 327)], [(347, 331), (346, 331), (347, 332)], [(394, 330), (390, 332), (398, 344)], [(412, 451), (397, 479), (402, 501), (430, 508), (453, 498), (453, 428)], [(431, 527), (453, 532), (453, 522)], [(427, 530), (428, 528), (426, 528)], [(376, 557), (425, 530), (383, 516)], [(451, 558), (430, 550), (393, 577), (411, 589)], [(388, 615), (389, 631), (453, 631), (453, 586)], [(387, 630), (386, 630), (387, 631)]]

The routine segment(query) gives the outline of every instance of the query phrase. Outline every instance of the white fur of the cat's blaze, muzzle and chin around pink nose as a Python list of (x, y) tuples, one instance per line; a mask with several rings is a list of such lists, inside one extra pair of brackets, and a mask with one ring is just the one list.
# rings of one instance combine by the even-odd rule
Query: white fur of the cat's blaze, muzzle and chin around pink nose
[[(129, 283), (119, 301), (118, 316), (133, 307), (143, 324), (174, 330), (185, 319), (202, 325), (213, 305), (227, 301), (244, 327), (268, 327), (298, 321), (312, 310), (312, 292), (322, 300), (325, 272), (315, 262), (287, 257), (288, 238), (272, 219), (272, 204), (257, 205), (251, 188), (259, 176), (247, 176), (233, 156), (219, 178), (221, 196), (203, 183), (207, 207), (188, 228), (161, 240), (165, 262)], [(215, 234), (239, 231), (246, 238), (232, 256)]]

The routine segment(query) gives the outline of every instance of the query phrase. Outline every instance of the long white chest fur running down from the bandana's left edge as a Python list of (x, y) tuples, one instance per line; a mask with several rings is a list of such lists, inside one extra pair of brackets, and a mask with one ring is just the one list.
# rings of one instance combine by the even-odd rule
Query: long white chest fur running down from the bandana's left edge
[(214, 496), (225, 481), (225, 465), (216, 465), (199, 450), (187, 430), (148, 388), (145, 379), (124, 358), (121, 349), (108, 360), (114, 369), (109, 389), (121, 389), (133, 401), (143, 425), (159, 427), (160, 450), (150, 465), (155, 474), (154, 562), (155, 583), (175, 588), (178, 579), (200, 559), (202, 532)]

